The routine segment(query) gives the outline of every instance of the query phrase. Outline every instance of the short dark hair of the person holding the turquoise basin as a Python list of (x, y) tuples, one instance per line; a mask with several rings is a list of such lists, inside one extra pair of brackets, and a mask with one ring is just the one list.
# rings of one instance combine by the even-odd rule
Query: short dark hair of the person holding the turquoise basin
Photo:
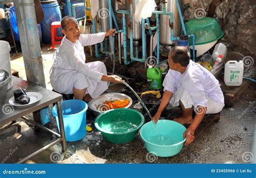
[(173, 63), (179, 63), (183, 67), (190, 63), (190, 52), (186, 46), (174, 46), (169, 53), (171, 53)]

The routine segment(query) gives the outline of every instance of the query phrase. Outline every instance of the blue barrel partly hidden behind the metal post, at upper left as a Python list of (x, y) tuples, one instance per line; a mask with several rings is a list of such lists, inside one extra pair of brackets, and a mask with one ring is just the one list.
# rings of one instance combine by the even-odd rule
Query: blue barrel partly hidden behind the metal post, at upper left
[[(17, 42), (20, 42), (21, 40), (19, 39), (19, 30), (18, 30), (18, 24), (17, 24), (17, 19), (16, 19), (16, 13), (15, 13), (15, 7), (14, 6), (10, 6), (10, 20), (11, 20), (12, 32), (14, 32), (14, 39)], [(40, 43), (42, 43), (41, 25), (37, 24), (37, 26), (38, 26), (39, 40), (40, 40)]]

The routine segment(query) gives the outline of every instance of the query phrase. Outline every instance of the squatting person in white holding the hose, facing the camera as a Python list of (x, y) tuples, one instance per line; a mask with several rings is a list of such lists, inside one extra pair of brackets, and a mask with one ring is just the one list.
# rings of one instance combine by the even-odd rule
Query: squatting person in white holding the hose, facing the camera
[(108, 88), (108, 81), (119, 83), (120, 77), (107, 76), (106, 66), (101, 61), (85, 63), (84, 46), (103, 42), (114, 29), (95, 34), (80, 34), (74, 17), (66, 16), (61, 21), (64, 38), (53, 56), (50, 81), (58, 93), (74, 94), (75, 99), (89, 101)]

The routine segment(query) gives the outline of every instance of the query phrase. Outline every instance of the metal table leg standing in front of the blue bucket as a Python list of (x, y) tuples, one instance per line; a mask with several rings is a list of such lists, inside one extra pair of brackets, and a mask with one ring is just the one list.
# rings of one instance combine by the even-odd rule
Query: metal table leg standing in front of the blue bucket
[(58, 111), (60, 136), (62, 138), (62, 151), (66, 152), (66, 136), (65, 136), (65, 131), (64, 131), (64, 123), (63, 123), (63, 115), (62, 115), (62, 105), (60, 103), (60, 100), (57, 101), (57, 111)]

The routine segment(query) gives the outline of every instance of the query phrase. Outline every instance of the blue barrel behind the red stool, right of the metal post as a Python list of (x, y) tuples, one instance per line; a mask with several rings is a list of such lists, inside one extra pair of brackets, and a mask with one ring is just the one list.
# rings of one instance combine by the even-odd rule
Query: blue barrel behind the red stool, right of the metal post
[[(49, 4), (42, 4), (44, 11), (44, 20), (41, 23), (43, 43), (51, 43), (51, 23), (61, 20), (61, 13), (57, 2), (51, 2)], [(61, 29), (57, 29), (57, 35), (62, 36)]]

